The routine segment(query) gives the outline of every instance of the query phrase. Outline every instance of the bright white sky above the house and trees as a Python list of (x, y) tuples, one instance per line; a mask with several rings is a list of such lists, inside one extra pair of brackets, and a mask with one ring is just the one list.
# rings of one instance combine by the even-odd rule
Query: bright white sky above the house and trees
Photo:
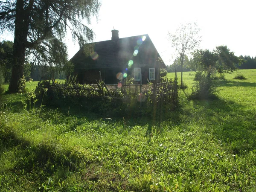
[[(200, 49), (227, 45), (235, 55), (256, 56), (255, 0), (101, 0), (98, 19), (91, 19), (94, 42), (148, 34), (166, 64), (177, 56), (168, 41), (181, 23), (197, 22), (201, 29)], [(87, 23), (84, 23), (87, 24)], [(12, 39), (8, 39), (12, 40)], [(79, 50), (67, 34), (69, 58)]]

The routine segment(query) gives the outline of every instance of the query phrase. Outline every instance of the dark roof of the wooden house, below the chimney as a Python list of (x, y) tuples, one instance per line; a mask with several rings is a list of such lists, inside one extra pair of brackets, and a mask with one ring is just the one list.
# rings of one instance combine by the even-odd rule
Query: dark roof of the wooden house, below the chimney
[[(86, 54), (88, 49), (92, 54)], [(134, 50), (136, 49), (138, 54), (134, 55)], [(129, 60), (134, 61), (134, 67), (146, 63), (152, 67), (166, 68), (165, 64), (156, 62), (158, 57), (160, 55), (149, 36), (138, 35), (119, 38), (116, 41), (109, 40), (85, 44), (70, 61), (75, 64), (77, 70), (125, 68), (128, 67)]]

